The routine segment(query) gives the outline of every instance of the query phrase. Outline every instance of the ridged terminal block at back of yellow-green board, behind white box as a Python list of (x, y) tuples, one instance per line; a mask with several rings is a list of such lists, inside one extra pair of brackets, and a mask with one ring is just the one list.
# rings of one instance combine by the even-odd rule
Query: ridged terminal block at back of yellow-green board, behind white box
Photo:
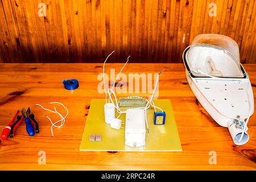
[(121, 97), (119, 99), (119, 107), (146, 107), (147, 101), (143, 97)]

